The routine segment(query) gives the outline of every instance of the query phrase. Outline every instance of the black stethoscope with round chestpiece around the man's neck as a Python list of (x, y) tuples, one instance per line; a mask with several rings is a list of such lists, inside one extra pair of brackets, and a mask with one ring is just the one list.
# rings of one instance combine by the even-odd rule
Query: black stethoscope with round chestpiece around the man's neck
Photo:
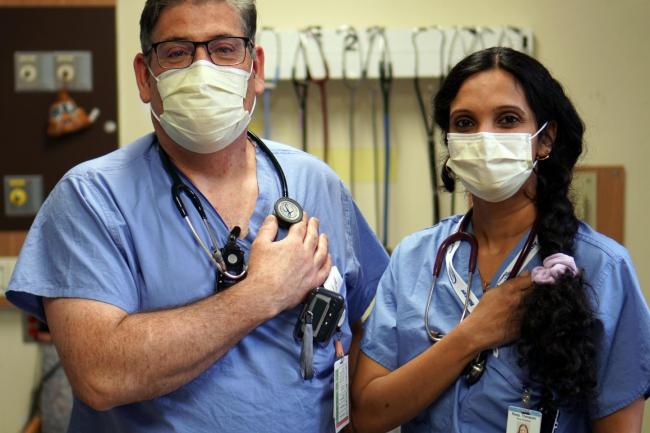
[[(278, 178), (280, 179), (280, 186), (282, 189), (282, 197), (280, 197), (273, 206), (273, 211), (275, 216), (278, 218), (278, 223), (282, 227), (288, 227), (292, 224), (295, 224), (302, 220), (303, 209), (302, 206), (295, 200), (289, 198), (289, 188), (287, 187), (287, 179), (282, 170), (282, 166), (276, 159), (273, 152), (264, 144), (264, 142), (257, 137), (252, 132), (248, 132), (248, 138), (256, 146), (258, 146), (266, 154), (266, 156), (271, 160), (271, 164), (275, 169)], [(228, 236), (228, 241), (223, 248), (219, 248), (219, 243), (217, 242), (217, 236), (208, 224), (208, 218), (201, 204), (201, 200), (198, 195), (181, 179), (178, 174), (178, 169), (169, 159), (167, 152), (159, 146), (160, 150), (160, 159), (165, 167), (165, 170), (169, 174), (172, 180), (171, 194), (174, 204), (180, 213), (181, 217), (185, 221), (185, 224), (189, 227), (192, 232), (192, 236), (196, 242), (201, 246), (201, 249), (210, 258), (210, 261), (214, 264), (219, 272), (218, 278), (218, 288), (226, 288), (236, 283), (237, 281), (242, 280), (246, 277), (246, 272), (248, 271), (248, 266), (244, 261), (244, 253), (241, 248), (237, 245), (237, 239), (241, 233), (241, 229), (238, 226), (233, 227)], [(189, 218), (187, 209), (183, 204), (181, 195), (185, 194), (194, 208), (201, 217), (201, 222), (208, 233), (210, 238), (210, 245), (206, 245), (201, 237), (199, 236), (196, 228), (192, 224), (192, 221)]]

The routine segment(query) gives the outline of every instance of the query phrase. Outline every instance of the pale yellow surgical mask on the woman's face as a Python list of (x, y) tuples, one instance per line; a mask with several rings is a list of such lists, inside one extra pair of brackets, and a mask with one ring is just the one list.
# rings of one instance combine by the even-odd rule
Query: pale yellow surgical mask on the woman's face
[(535, 166), (527, 132), (447, 134), (449, 167), (465, 189), (485, 201), (506, 200), (524, 185)]

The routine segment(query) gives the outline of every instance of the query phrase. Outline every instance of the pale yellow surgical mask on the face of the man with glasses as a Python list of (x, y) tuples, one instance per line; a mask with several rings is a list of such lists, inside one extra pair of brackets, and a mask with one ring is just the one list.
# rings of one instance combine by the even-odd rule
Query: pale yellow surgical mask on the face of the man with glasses
[(185, 149), (196, 153), (222, 150), (250, 123), (257, 101), (248, 112), (244, 98), (252, 70), (252, 65), (246, 72), (198, 60), (187, 68), (154, 75), (163, 112), (160, 116), (153, 108), (151, 112), (167, 135)]

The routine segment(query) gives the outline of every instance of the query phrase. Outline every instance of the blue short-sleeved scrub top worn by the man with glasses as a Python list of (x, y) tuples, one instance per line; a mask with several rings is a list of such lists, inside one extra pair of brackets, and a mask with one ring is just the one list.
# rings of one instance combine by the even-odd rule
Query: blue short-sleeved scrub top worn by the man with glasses
[[(329, 167), (289, 146), (267, 144), (284, 169), (290, 196), (319, 218), (321, 232), (329, 237), (330, 254), (344, 277), (341, 294), (347, 320), (342, 334), (347, 350), (350, 324), (360, 320), (374, 298), (388, 257)], [(249, 233), (240, 241), (247, 256), (261, 223), (281, 196), (270, 160), (259, 148), (256, 153), (259, 197)], [(170, 191), (171, 180), (153, 135), (73, 168), (36, 217), (7, 298), (44, 319), (42, 297), (94, 299), (131, 314), (174, 308), (212, 295), (215, 268), (181, 219)], [(229, 230), (199, 196), (223, 246)], [(198, 214), (189, 200), (184, 201), (207, 242)], [(300, 344), (293, 337), (299, 310), (300, 306), (284, 311), (263, 323), (205, 372), (168, 395), (106, 412), (75, 398), (69, 431), (334, 431), (334, 345), (316, 345), (315, 377), (303, 380)], [(213, 326), (218, 328), (219, 323)]]

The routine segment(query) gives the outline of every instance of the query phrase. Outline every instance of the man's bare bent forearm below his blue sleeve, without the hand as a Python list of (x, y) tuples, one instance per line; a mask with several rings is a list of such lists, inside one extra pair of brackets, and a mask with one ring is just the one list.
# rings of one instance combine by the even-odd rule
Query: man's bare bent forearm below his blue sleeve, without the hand
[(178, 389), (272, 317), (252, 287), (240, 284), (195, 304), (132, 315), (94, 301), (49, 301), (48, 321), (57, 324), (51, 331), (73, 388), (99, 410)]

